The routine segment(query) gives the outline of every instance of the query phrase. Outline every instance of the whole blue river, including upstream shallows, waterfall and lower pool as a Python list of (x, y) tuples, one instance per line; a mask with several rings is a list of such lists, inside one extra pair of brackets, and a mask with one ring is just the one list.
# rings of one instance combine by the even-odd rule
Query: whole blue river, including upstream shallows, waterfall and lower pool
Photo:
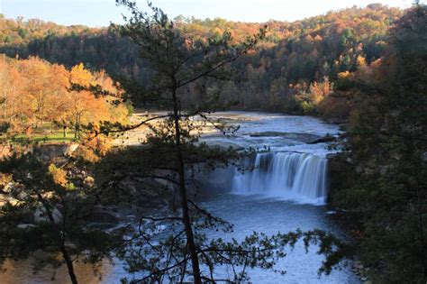
[[(248, 112), (227, 112), (211, 115), (227, 124), (240, 125), (234, 135), (209, 133), (203, 140), (212, 144), (232, 145), (238, 148), (254, 148), (244, 161), (244, 174), (238, 169), (213, 172), (211, 179), (223, 179), (221, 190), (200, 200), (201, 206), (214, 215), (234, 224), (234, 232), (224, 235), (208, 232), (213, 238), (243, 240), (248, 234), (287, 233), (299, 228), (303, 231), (322, 229), (345, 238), (340, 224), (333, 218), (333, 211), (326, 205), (327, 160), (332, 150), (327, 143), (313, 143), (326, 134), (340, 133), (338, 126), (324, 124), (307, 116), (279, 115)], [(359, 283), (349, 267), (333, 270), (330, 275), (319, 276), (323, 256), (311, 247), (305, 252), (297, 243), (277, 268), (286, 270), (280, 275), (266, 270), (249, 270), (253, 283)], [(60, 268), (52, 279), (52, 270), (41, 270), (33, 275), (31, 261), (8, 262), (0, 273), (0, 283), (68, 283), (65, 267)], [(77, 263), (77, 275), (81, 283), (119, 283), (129, 277), (121, 265), (103, 263), (95, 275), (92, 268)], [(227, 274), (226, 270), (221, 271)]]

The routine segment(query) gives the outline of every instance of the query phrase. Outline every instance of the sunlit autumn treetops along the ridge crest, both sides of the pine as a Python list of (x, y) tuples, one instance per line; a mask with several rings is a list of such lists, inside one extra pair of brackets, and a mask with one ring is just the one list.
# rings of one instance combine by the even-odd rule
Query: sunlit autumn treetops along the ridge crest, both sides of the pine
[[(244, 41), (247, 36), (258, 32), (265, 24), (269, 27), (266, 42), (279, 42), (299, 36), (316, 35), (324, 36), (330, 33), (342, 33), (351, 29), (359, 40), (368, 37), (383, 35), (386, 29), (393, 24), (395, 19), (402, 14), (397, 8), (373, 4), (366, 8), (356, 6), (341, 10), (331, 11), (327, 14), (314, 16), (292, 23), (270, 20), (267, 23), (242, 23), (227, 21), (222, 18), (196, 19), (177, 16), (174, 21), (177, 27), (187, 35), (194, 38), (208, 38), (220, 35), (225, 31), (232, 32), (234, 41)], [(28, 44), (30, 41), (42, 40), (46, 37), (57, 36), (86, 36), (97, 35), (107, 31), (107, 28), (90, 28), (85, 25), (63, 26), (57, 23), (44, 22), (39, 19), (25, 20), (22, 17), (7, 19), (0, 14), (0, 45)]]

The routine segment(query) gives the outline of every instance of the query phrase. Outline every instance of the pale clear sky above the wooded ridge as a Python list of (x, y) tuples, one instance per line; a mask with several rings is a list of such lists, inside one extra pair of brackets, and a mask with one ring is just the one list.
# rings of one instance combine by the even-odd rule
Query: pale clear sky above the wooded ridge
[[(221, 17), (240, 22), (267, 22), (268, 20), (295, 21), (328, 11), (353, 5), (371, 3), (407, 8), (413, 0), (151, 0), (170, 18), (182, 14), (186, 17)], [(137, 0), (143, 7), (146, 0)], [(64, 25), (85, 24), (91, 27), (123, 23), (123, 7), (114, 0), (0, 0), (0, 14), (7, 18), (23, 16), (39, 18)]]

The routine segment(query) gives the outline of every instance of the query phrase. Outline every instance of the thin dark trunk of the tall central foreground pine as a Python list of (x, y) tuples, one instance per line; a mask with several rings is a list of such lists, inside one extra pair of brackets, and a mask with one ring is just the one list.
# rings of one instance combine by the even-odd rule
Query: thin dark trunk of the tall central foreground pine
[(177, 171), (179, 176), (179, 194), (181, 196), (182, 218), (186, 229), (186, 243), (190, 252), (191, 262), (193, 266), (193, 277), (196, 284), (202, 283), (200, 275), (199, 260), (195, 248), (195, 237), (191, 227), (191, 219), (188, 210), (188, 201), (186, 197), (186, 176), (184, 171), (184, 159), (181, 151), (181, 132), (179, 126), (178, 102), (176, 89), (173, 90), (174, 101), (174, 121), (175, 121), (175, 144), (177, 148)]

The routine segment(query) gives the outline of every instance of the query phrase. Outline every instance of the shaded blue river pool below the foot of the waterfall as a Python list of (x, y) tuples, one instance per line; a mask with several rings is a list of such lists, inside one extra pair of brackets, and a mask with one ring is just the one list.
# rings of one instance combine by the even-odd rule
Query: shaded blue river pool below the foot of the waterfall
[[(208, 209), (214, 215), (223, 217), (234, 224), (231, 234), (223, 232), (206, 232), (208, 237), (221, 237), (225, 240), (235, 238), (243, 240), (253, 232), (265, 234), (287, 233), (297, 228), (306, 231), (315, 228), (322, 229), (332, 234), (345, 238), (341, 231), (341, 225), (329, 214), (327, 206), (302, 205), (292, 201), (286, 201), (277, 197), (265, 197), (259, 195), (242, 196), (234, 194), (218, 194), (211, 197), (203, 197), (200, 205)], [(319, 277), (317, 270), (321, 267), (323, 256), (316, 254), (316, 247), (312, 246), (305, 252), (303, 243), (297, 243), (294, 250), (288, 250), (286, 258), (277, 263), (277, 269), (286, 270), (285, 275), (274, 273), (271, 270), (249, 270), (250, 280), (253, 283), (359, 283), (359, 279), (350, 268), (333, 270), (331, 275)], [(54, 271), (49, 268), (41, 270), (38, 274), (32, 273), (31, 261), (17, 263), (8, 261), (4, 267), (7, 271), (0, 273), (0, 282), (9, 283), (69, 283), (66, 267), (60, 267), (54, 276)], [(119, 283), (127, 275), (120, 263), (113, 266), (108, 261), (97, 267), (94, 273), (93, 267), (81, 262), (76, 264), (76, 272), (80, 283)], [(231, 271), (218, 268), (217, 273), (227, 276)]]

